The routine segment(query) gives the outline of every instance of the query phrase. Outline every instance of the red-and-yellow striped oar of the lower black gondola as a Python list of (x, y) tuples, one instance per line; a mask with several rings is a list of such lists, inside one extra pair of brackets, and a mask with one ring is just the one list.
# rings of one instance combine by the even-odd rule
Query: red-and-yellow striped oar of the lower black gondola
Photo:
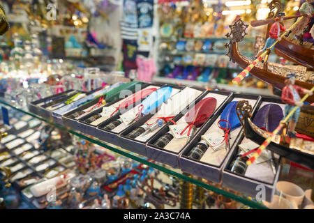
[[(311, 89), (311, 92), (314, 91), (314, 86)], [(306, 100), (306, 98), (308, 98), (309, 94), (307, 93), (301, 100), (301, 102), (304, 102)], [(285, 119), (283, 119), (283, 121), (281, 121), (281, 123), (278, 125), (278, 127), (276, 128), (276, 130), (274, 130), (273, 133), (271, 133), (271, 136), (268, 137), (262, 145), (260, 145), (259, 148), (257, 148), (257, 151), (252, 155), (252, 157), (250, 159), (248, 159), (248, 161), (246, 161), (246, 164), (250, 165), (253, 164), (253, 162), (257, 159), (257, 157), (260, 156), (260, 154), (262, 153), (262, 151), (264, 151), (265, 148), (267, 148), (267, 146), (271, 143), (271, 141), (274, 139), (274, 137), (276, 136), (276, 134), (278, 134), (278, 132), (283, 128), (284, 123), (287, 123), (287, 121), (289, 120), (289, 118), (294, 114), (294, 112), (297, 110), (299, 106), (295, 106), (292, 111), (285, 116)]]

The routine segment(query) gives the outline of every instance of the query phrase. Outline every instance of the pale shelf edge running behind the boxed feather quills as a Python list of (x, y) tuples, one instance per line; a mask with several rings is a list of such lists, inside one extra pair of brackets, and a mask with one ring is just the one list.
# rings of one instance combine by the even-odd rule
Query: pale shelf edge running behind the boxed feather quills
[(215, 84), (216, 86), (213, 86), (213, 84), (210, 84), (209, 82), (159, 77), (158, 75), (154, 75), (152, 82), (178, 84), (178, 85), (182, 84), (182, 85), (188, 85), (188, 86), (196, 86), (196, 87), (205, 88), (205, 89), (209, 88), (209, 89), (232, 91), (235, 93), (255, 93), (257, 95), (274, 96), (274, 94), (271, 92), (270, 89), (257, 89), (254, 87), (237, 86), (237, 85), (230, 85), (230, 84)]

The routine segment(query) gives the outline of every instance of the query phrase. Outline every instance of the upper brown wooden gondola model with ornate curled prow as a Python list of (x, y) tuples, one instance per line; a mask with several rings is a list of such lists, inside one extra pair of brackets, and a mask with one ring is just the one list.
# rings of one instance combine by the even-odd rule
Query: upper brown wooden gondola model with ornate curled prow
[[(230, 43), (226, 44), (229, 48), (227, 56), (230, 57), (230, 61), (237, 63), (241, 68), (248, 67), (253, 60), (246, 58), (239, 52), (238, 44), (244, 40), (246, 36), (246, 29), (248, 25), (242, 20), (237, 20), (233, 25), (230, 25), (230, 33), (226, 36), (230, 38)], [(312, 55), (313, 56), (313, 55)], [(314, 84), (314, 71), (306, 71), (304, 66), (282, 66), (278, 63), (268, 63), (267, 67), (264, 67), (263, 63), (257, 63), (256, 66), (250, 71), (250, 74), (261, 79), (263, 82), (271, 84), (277, 89), (283, 89), (285, 86), (285, 76), (290, 73), (296, 74), (296, 83), (305, 89), (311, 89)], [(304, 96), (301, 94), (301, 96)], [(306, 100), (307, 102), (314, 102), (314, 95), (311, 95)]]

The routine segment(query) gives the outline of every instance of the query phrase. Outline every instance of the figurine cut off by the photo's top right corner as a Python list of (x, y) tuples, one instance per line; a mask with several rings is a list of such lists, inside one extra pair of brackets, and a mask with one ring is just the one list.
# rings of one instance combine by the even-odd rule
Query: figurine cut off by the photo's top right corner
[(299, 37), (299, 43), (301, 45), (303, 44), (303, 35), (304, 33), (306, 33), (305, 30), (308, 26), (308, 22), (310, 22), (310, 18), (314, 13), (314, 8), (311, 4), (312, 1), (313, 0), (306, 0), (306, 2), (302, 4), (302, 6), (299, 9), (299, 13), (301, 13), (303, 18), (296, 26), (294, 26), (293, 29), (289, 31), (289, 33), (285, 35), (287, 37), (290, 35), (290, 33), (294, 33), (296, 37)]

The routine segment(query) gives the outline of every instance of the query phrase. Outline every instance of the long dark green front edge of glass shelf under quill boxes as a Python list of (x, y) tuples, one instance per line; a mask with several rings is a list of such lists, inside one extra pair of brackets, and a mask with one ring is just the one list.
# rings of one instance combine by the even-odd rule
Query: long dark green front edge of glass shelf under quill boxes
[(47, 120), (47, 119), (42, 118), (36, 114), (28, 112), (26, 109), (15, 107), (15, 105), (10, 105), (10, 103), (7, 102), (4, 98), (0, 99), (0, 105), (5, 105), (5, 106), (8, 106), (12, 109), (15, 109), (19, 112), (22, 112), (24, 114), (28, 114), (29, 116), (33, 116), (34, 118), (37, 118), (40, 121), (44, 121), (45, 123), (48, 123), (50, 125), (53, 125), (54, 127), (57, 127), (61, 130), (69, 132), (70, 134), (74, 134), (77, 137), (80, 137), (82, 139), (90, 141), (91, 143), (94, 143), (94, 144), (97, 144), (97, 145), (102, 146), (104, 148), (107, 148), (110, 151), (113, 151), (114, 153), (118, 153), (119, 155), (123, 155), (125, 157), (128, 157), (128, 158), (135, 160), (137, 162), (140, 162), (142, 164), (146, 164), (149, 167), (153, 167), (154, 169), (158, 169), (160, 171), (163, 171), (165, 174), (169, 174), (169, 175), (177, 177), (181, 180), (185, 180), (189, 183), (193, 183), (194, 185), (197, 185), (199, 187), (203, 187), (204, 189), (210, 190), (216, 194), (221, 194), (224, 197), (228, 197), (234, 201), (238, 201), (240, 203), (243, 203), (244, 205), (250, 206), (251, 208), (267, 209), (267, 207), (263, 206), (260, 203), (255, 202), (255, 201), (252, 201), (251, 199), (247, 199), (242, 194), (238, 194), (237, 192), (230, 192), (227, 188), (220, 189), (218, 187), (215, 187), (214, 185), (210, 185), (210, 182), (205, 183), (203, 180), (200, 180), (199, 178), (195, 179), (192, 176), (191, 177), (186, 176), (186, 174), (184, 174), (180, 169), (174, 169), (172, 167), (166, 166), (165, 164), (156, 163), (156, 162), (154, 162), (154, 160), (147, 160), (146, 157), (142, 157), (142, 156), (137, 155), (135, 153), (130, 153), (129, 151), (126, 151), (123, 148), (114, 146), (112, 144), (109, 145), (105, 141), (100, 141), (99, 139), (96, 139), (95, 137), (91, 137), (87, 134), (82, 134), (81, 132), (79, 132), (77, 130), (66, 128), (63, 125), (59, 125), (57, 123), (54, 123), (51, 120)]

